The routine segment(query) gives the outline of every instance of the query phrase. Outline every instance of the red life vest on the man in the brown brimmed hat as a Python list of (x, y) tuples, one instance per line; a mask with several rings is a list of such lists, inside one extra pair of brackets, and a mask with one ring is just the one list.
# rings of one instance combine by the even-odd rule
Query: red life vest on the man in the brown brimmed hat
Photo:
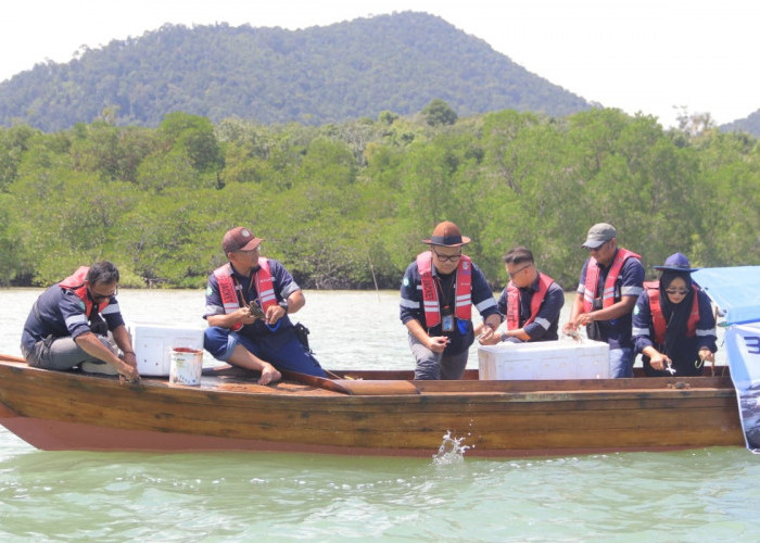
[[(433, 257), (430, 251), (417, 255), (417, 268), (422, 280), (422, 303), (425, 305), (425, 321), (428, 328), (441, 324), (441, 304), (438, 300), (438, 289), (433, 280)], [(454, 315), (460, 320), (469, 320), (472, 316), (472, 261), (464, 254), (456, 268), (456, 290)]]

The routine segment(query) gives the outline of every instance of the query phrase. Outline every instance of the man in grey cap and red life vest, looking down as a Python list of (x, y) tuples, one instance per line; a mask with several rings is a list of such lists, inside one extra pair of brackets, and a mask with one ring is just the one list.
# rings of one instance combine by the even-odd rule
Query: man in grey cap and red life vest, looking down
[(591, 227), (583, 248), (590, 256), (581, 270), (565, 332), (585, 326), (590, 339), (609, 343), (610, 377), (633, 377), (633, 307), (644, 291), (641, 256), (618, 247), (612, 225)]

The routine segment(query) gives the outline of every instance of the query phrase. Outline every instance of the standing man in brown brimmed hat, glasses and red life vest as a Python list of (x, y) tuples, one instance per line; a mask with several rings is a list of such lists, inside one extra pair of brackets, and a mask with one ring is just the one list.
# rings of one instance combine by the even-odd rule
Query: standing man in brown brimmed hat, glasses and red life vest
[(482, 272), (461, 254), (470, 238), (449, 222), (423, 240), (430, 245), (409, 264), (401, 287), (401, 320), (417, 362), (415, 379), (460, 379), (474, 341), (472, 304), (483, 317), (483, 336), (502, 323)]

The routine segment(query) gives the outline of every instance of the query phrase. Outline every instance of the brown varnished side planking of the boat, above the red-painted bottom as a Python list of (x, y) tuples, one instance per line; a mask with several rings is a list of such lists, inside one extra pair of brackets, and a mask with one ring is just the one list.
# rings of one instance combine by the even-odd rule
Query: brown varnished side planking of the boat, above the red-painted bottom
[[(631, 383), (621, 382), (622, 388), (586, 390), (573, 381), (566, 390), (548, 391), (542, 382), (537, 383), (541, 388), (525, 391), (518, 382), (495, 381), (501, 384), (483, 387), (454, 381), (438, 388), (423, 383), (422, 394), (345, 395), (296, 383), (261, 387), (207, 379), (220, 384), (186, 388), (145, 379), (144, 387), (138, 389), (119, 386), (116, 379), (3, 364), (0, 380), (12, 380), (14, 386), (0, 387), (0, 401), (13, 413), (41, 420), (283, 445), (434, 452), (446, 431), (467, 435), (468, 444), (484, 450), (615, 450), (743, 442), (733, 389), (626, 388)], [(654, 382), (631, 381), (636, 380)], [(415, 390), (419, 386), (417, 381), (401, 382)], [(389, 390), (387, 383), (372, 384), (377, 390)], [(238, 387), (240, 392), (231, 393), (225, 387)], [(466, 393), (468, 388), (474, 393)]]

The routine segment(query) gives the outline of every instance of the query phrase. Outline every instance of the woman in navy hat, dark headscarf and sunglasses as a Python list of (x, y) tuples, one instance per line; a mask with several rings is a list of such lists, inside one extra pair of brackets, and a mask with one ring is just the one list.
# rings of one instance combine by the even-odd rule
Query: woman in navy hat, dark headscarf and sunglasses
[(692, 281), (688, 258), (672, 254), (660, 280), (645, 282), (633, 311), (633, 341), (649, 377), (700, 376), (715, 363), (715, 317), (710, 299)]

